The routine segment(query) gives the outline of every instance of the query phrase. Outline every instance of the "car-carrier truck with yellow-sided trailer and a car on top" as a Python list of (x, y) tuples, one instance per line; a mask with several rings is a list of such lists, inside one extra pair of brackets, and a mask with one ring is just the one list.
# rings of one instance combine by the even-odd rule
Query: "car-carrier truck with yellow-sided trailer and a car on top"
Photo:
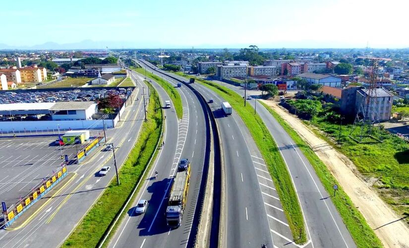
[(168, 207), (166, 208), (166, 222), (168, 227), (177, 228), (182, 222), (182, 214), (187, 201), (189, 190), (190, 166), (185, 170), (178, 170), (169, 192)]

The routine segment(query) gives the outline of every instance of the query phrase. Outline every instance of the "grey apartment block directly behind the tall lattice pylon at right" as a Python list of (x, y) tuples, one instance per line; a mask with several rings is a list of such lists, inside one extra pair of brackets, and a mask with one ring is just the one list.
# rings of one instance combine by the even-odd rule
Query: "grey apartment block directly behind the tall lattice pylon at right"
[[(342, 90), (341, 96), (341, 113), (353, 118), (359, 111), (359, 108), (365, 109), (367, 101), (362, 101), (369, 97), (369, 104), (377, 107), (380, 122), (389, 121), (392, 112), (393, 94), (381, 87), (376, 88), (372, 95), (369, 96), (369, 89), (365, 89), (362, 86), (349, 86)], [(376, 98), (375, 98), (376, 96)], [(375, 119), (374, 114), (372, 118)]]

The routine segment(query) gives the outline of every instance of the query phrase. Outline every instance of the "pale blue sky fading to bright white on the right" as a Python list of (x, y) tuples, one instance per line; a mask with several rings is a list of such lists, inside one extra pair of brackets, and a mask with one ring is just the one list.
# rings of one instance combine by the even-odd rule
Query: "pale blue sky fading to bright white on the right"
[(409, 47), (408, 0), (8, 0), (1, 9), (0, 44), (13, 47)]

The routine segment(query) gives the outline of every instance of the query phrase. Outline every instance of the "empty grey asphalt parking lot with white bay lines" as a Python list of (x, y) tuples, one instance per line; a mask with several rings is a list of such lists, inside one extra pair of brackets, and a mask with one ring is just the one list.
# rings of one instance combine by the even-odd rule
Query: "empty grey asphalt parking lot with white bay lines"
[(62, 155), (75, 157), (75, 146), (56, 144), (58, 136), (0, 139), (0, 201), (7, 207), (57, 171)]

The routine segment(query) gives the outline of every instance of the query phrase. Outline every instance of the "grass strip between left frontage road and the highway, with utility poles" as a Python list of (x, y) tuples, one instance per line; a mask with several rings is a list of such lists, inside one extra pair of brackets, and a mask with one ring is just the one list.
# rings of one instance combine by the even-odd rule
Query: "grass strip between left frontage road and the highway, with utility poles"
[[(147, 121), (143, 123), (138, 140), (119, 170), (120, 185), (114, 177), (97, 203), (91, 208), (62, 247), (96, 247), (117, 217), (141, 176), (151, 156), (156, 156), (163, 126), (162, 107), (153, 89), (148, 105)], [(152, 162), (154, 159), (152, 159)], [(148, 167), (149, 169), (149, 167)], [(115, 173), (115, 172), (114, 172)], [(139, 185), (141, 187), (142, 184)], [(139, 190), (139, 188), (137, 189)], [(134, 194), (136, 197), (137, 194)], [(130, 203), (132, 200), (130, 201)], [(124, 212), (126, 214), (126, 211)], [(123, 218), (124, 214), (121, 216)], [(118, 222), (120, 223), (120, 221)]]

